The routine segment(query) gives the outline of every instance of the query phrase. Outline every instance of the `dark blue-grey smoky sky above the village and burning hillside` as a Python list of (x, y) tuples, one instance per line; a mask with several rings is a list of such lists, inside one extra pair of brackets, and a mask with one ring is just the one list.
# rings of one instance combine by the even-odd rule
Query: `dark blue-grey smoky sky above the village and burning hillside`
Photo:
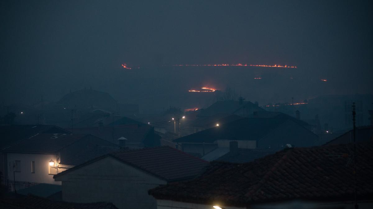
[[(3, 104), (41, 94), (56, 101), (84, 87), (136, 102), (153, 87), (167, 94), (202, 85), (178, 74), (185, 68), (160, 65), (237, 62), (296, 65), (303, 80), (330, 81), (304, 98), (373, 93), (372, 1), (3, 0), (0, 15)], [(227, 70), (231, 80), (212, 85), (235, 87), (240, 75)], [(207, 80), (222, 73), (201, 71)]]

